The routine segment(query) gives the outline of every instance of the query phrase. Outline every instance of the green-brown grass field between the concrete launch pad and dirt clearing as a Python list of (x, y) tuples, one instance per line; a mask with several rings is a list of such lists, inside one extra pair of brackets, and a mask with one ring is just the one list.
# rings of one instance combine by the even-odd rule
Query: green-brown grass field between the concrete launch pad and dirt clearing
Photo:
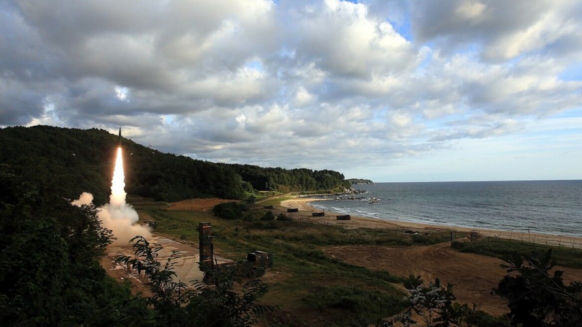
[[(164, 202), (133, 202), (140, 216), (156, 222), (155, 233), (197, 243), (200, 222), (212, 223), (217, 253), (244, 258), (254, 250), (274, 258), (271, 290), (264, 304), (281, 305), (268, 325), (365, 326), (402, 311), (404, 293), (393, 286), (404, 278), (350, 265), (324, 254), (329, 246), (414, 246), (448, 241), (447, 234), (403, 234), (380, 229), (344, 229), (303, 221), (261, 221), (251, 209), (227, 221), (200, 211), (169, 211)], [(278, 205), (285, 197), (262, 205)], [(272, 203), (272, 204), (269, 204)], [(362, 258), (362, 260), (367, 260)], [(265, 318), (266, 319), (266, 318)]]

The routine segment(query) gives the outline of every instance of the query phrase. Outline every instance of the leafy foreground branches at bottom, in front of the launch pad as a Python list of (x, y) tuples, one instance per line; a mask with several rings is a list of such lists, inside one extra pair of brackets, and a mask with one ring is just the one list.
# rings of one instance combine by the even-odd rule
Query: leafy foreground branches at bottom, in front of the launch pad
[(268, 292), (268, 286), (259, 279), (251, 279), (242, 285), (240, 292), (235, 284), (242, 284), (240, 279), (229, 271), (214, 272), (214, 286), (194, 280), (190, 287), (181, 281), (176, 282), (174, 271), (178, 251), (172, 251), (165, 264), (158, 261), (163, 247), (151, 244), (143, 236), (136, 236), (131, 241), (133, 257), (120, 255), (119, 264), (143, 272), (148, 279), (152, 297), (148, 303), (157, 316), (155, 321), (164, 326), (251, 326), (259, 314), (272, 311), (273, 307), (261, 305), (258, 299)]

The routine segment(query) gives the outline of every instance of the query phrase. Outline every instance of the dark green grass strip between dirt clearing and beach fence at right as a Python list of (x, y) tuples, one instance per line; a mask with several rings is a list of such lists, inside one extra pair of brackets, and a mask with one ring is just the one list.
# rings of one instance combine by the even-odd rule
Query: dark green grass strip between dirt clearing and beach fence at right
[(521, 257), (531, 255), (539, 257), (544, 255), (548, 248), (552, 248), (552, 258), (556, 260), (556, 264), (570, 268), (582, 268), (582, 250), (577, 248), (544, 246), (542, 244), (522, 243), (519, 240), (498, 240), (490, 237), (478, 242), (455, 241), (451, 246), (461, 252), (488, 255), (502, 260), (514, 253), (521, 255)]

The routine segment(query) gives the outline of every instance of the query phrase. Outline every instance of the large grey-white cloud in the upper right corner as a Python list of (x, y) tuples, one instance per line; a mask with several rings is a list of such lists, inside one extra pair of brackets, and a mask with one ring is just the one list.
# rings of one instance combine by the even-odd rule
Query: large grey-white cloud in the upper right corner
[(580, 41), (552, 45), (580, 36), (581, 10), (575, 0), (437, 0), (416, 3), (412, 19), (419, 41), (436, 41), (446, 51), (477, 47), (485, 61), (504, 61), (538, 51), (579, 52)]

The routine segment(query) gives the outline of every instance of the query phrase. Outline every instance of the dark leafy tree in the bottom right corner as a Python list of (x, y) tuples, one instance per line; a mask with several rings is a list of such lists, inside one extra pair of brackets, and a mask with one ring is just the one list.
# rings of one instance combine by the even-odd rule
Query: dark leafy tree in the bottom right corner
[(555, 265), (551, 248), (542, 258), (525, 260), (513, 255), (505, 262), (508, 265), (502, 268), (513, 274), (506, 275), (492, 293), (509, 301), (508, 316), (513, 326), (580, 326), (582, 283), (565, 285), (563, 271), (550, 273)]

